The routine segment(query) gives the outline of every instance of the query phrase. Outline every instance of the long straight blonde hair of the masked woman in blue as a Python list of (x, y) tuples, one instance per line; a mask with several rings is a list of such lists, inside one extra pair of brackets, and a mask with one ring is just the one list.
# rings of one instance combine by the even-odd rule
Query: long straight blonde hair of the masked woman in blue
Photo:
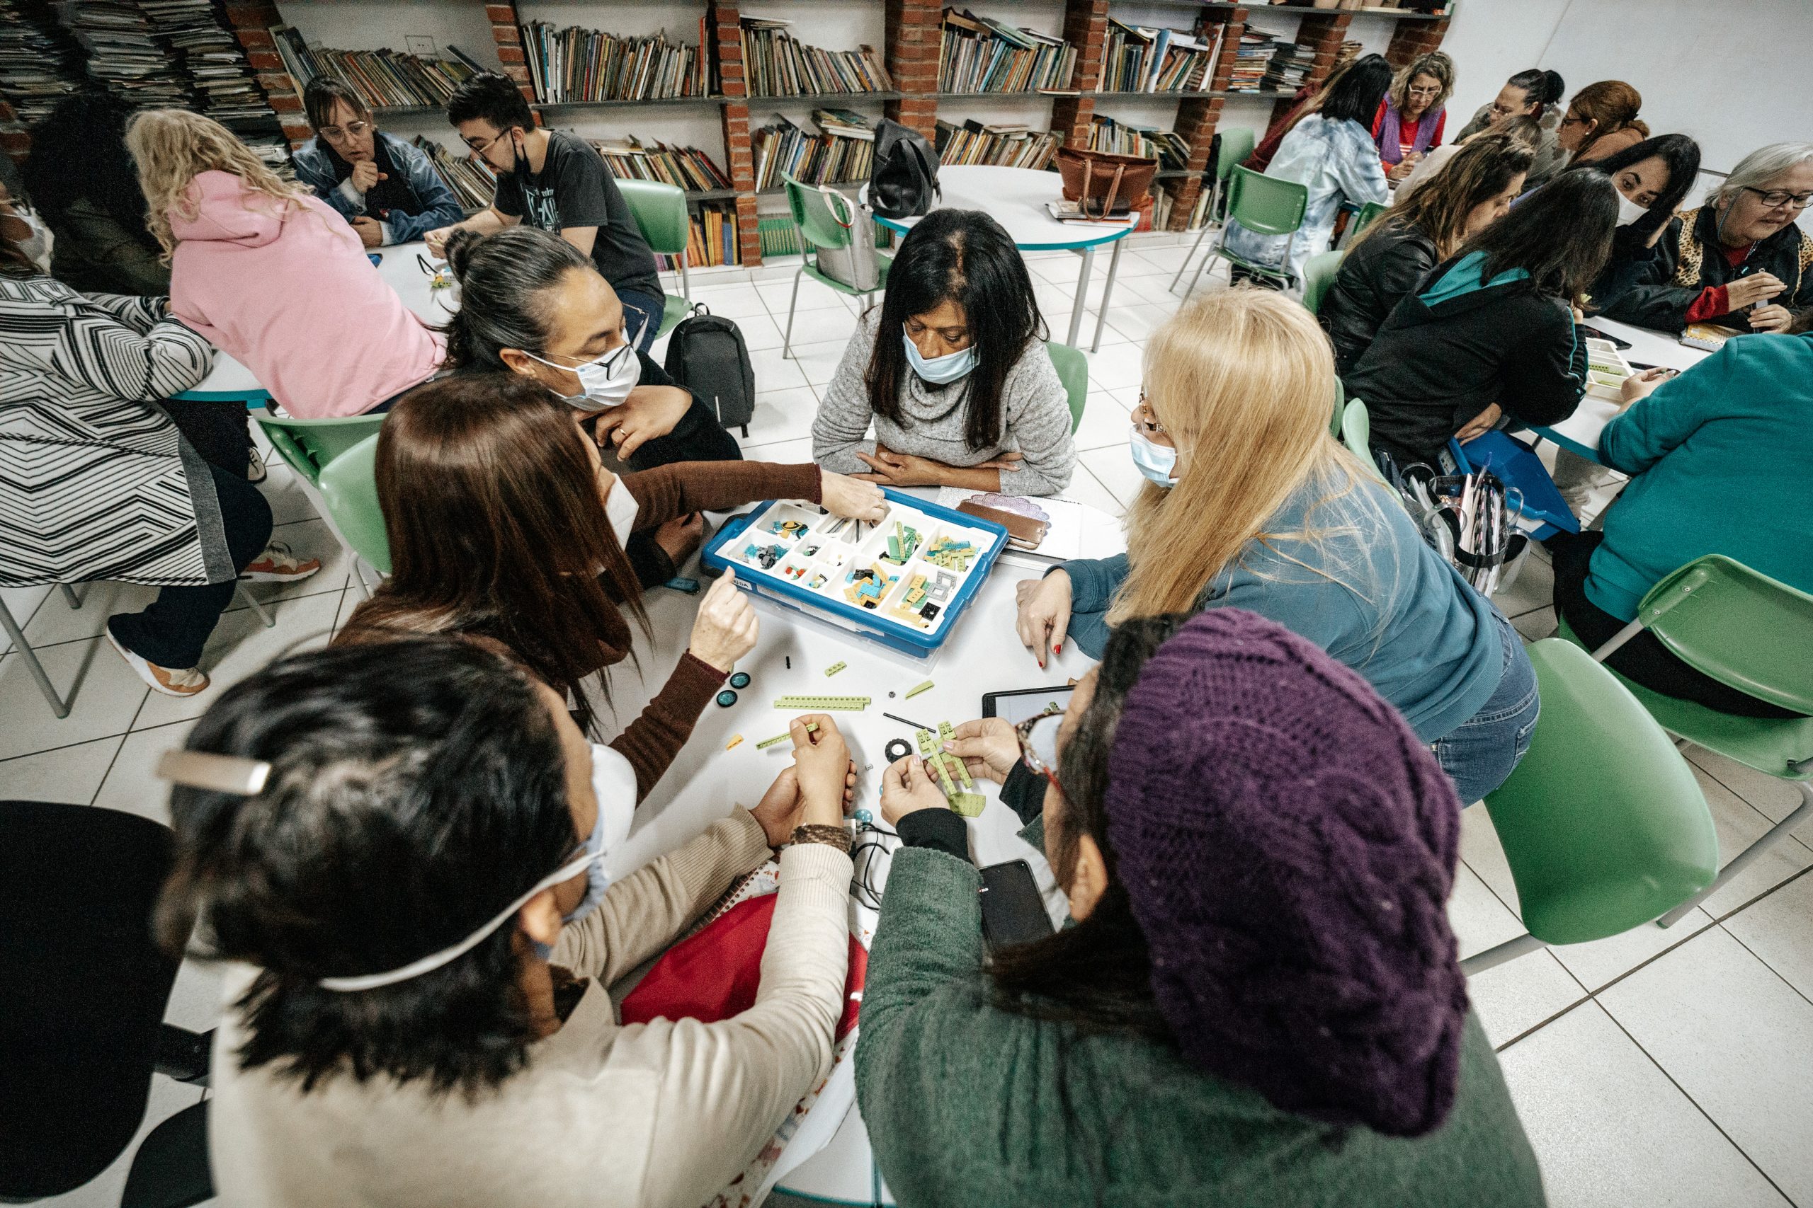
[[(1146, 402), (1177, 446), (1178, 478), (1146, 484), (1128, 511), (1129, 570), (1110, 625), (1193, 612), (1253, 540), (1320, 543), (1329, 531), (1267, 532), (1265, 522), (1313, 480), (1327, 500), (1363, 480), (1329, 435), (1334, 351), (1314, 315), (1282, 293), (1217, 290), (1171, 315), (1146, 344)], [(1331, 560), (1322, 563), (1304, 565), (1334, 580)]]

